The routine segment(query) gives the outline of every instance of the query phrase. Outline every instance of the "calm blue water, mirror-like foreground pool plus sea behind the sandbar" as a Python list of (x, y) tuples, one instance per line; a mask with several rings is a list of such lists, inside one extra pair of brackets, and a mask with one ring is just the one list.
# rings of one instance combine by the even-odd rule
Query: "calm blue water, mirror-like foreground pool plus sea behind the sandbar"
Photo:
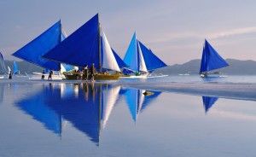
[[(217, 82), (254, 84), (254, 78)], [(144, 96), (115, 84), (0, 81), (1, 157), (256, 154), (253, 101)], [(195, 76), (136, 81), (208, 83)]]

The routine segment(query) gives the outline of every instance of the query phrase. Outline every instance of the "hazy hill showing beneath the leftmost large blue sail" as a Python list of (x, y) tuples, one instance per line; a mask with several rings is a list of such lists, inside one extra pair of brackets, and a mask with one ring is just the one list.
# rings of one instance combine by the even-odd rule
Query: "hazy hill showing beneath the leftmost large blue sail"
[[(43, 72), (42, 67), (38, 67), (32, 63), (29, 63), (27, 61), (16, 61), (18, 69), (20, 70), (21, 74), (26, 73), (33, 73), (33, 72)], [(13, 71), (14, 69), (14, 61), (4, 61), (5, 67), (9, 68)]]

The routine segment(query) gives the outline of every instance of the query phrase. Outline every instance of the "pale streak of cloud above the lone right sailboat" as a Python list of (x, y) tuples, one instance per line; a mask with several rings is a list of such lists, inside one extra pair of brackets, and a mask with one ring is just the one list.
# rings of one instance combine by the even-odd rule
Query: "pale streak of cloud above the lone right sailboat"
[(256, 32), (256, 26), (236, 28), (226, 32), (218, 32), (216, 34), (210, 35), (208, 38), (211, 38), (211, 39), (225, 38), (225, 37), (230, 37), (234, 35), (243, 35), (243, 34), (252, 33), (252, 32)]

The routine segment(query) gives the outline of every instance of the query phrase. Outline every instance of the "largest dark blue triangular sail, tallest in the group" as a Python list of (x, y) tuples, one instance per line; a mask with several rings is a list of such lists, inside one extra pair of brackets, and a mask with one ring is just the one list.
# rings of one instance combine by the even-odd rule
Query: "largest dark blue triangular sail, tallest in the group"
[(94, 63), (99, 68), (98, 25), (98, 15), (95, 15), (43, 57), (78, 67), (86, 64), (90, 67)]

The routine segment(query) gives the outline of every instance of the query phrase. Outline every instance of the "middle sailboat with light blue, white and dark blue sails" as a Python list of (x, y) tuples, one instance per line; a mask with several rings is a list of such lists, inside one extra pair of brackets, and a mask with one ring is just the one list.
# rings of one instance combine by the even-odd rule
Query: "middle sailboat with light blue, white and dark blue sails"
[(137, 33), (133, 34), (131, 44), (129, 45), (125, 58), (126, 68), (123, 73), (131, 74), (138, 77), (147, 77), (155, 69), (166, 67), (166, 63), (154, 55), (151, 49), (148, 49), (137, 39)]

